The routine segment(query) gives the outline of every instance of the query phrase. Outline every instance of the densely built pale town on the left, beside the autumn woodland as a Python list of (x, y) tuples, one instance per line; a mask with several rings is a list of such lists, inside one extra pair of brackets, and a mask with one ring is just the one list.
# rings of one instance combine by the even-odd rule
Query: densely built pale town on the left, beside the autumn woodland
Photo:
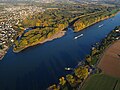
[(17, 34), (17, 30), (13, 26), (19, 24), (27, 16), (45, 10), (42, 7), (26, 4), (0, 3), (0, 7), (0, 60), (2, 60)]

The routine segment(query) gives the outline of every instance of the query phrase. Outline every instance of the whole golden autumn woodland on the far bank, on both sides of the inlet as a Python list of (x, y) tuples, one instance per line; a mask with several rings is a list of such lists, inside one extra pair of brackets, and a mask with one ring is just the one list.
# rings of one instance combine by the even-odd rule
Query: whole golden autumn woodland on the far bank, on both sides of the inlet
[[(81, 11), (79, 8), (74, 8), (75, 6), (70, 10), (67, 7), (64, 7), (65, 9), (49, 9), (43, 13), (28, 16), (18, 25), (15, 25), (14, 29), (18, 31), (18, 34), (14, 38), (13, 52), (18, 53), (28, 47), (60, 38), (65, 35), (68, 26), (72, 27), (74, 32), (81, 31), (97, 22), (115, 16), (119, 11), (115, 7), (103, 6), (98, 6), (100, 10), (96, 10), (92, 6), (92, 8), (84, 10), (84, 8), (89, 7), (87, 6), (83, 8), (86, 13), (74, 14), (74, 10)], [(35, 26), (39, 28), (29, 30), (18, 41), (17, 38), (23, 34), (25, 28)]]

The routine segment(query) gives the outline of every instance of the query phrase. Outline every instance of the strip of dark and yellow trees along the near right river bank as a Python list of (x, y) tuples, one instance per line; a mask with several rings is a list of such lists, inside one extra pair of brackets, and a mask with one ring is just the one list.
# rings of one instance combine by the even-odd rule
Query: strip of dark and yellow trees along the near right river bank
[[(71, 74), (61, 77), (59, 79), (59, 84), (51, 85), (48, 90), (86, 90), (86, 81), (88, 81), (90, 77), (96, 76), (106, 78), (107, 76), (104, 72), (98, 68), (98, 64), (105, 50), (118, 40), (120, 40), (120, 26), (112, 30), (101, 42), (97, 42), (93, 45), (90, 54), (86, 55), (85, 60), (80, 62), (76, 68), (73, 68)], [(109, 80), (110, 77), (106, 79)]]

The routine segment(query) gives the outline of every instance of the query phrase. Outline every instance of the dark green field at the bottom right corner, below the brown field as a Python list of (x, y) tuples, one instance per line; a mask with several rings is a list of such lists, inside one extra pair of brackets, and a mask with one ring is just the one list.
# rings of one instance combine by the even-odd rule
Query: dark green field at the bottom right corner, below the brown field
[(120, 90), (120, 79), (104, 74), (92, 75), (87, 79), (82, 90)]

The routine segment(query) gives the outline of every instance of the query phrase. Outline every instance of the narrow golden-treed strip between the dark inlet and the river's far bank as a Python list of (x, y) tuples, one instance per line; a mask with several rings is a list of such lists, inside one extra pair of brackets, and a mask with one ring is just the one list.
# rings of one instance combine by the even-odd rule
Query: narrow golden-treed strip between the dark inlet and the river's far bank
[[(118, 11), (117, 11), (118, 12)], [(90, 17), (88, 15), (88, 17), (84, 16), (84, 17), (81, 17), (79, 20), (77, 20), (73, 27), (74, 27), (74, 32), (78, 32), (78, 31), (81, 31), (91, 25), (94, 25), (100, 21), (103, 21), (103, 20), (106, 20), (108, 18), (111, 18), (111, 17), (114, 17), (117, 12), (109, 12), (109, 13), (106, 13), (106, 15), (104, 16), (104, 14), (99, 14), (98, 15), (93, 15), (92, 17)], [(95, 18), (94, 18), (95, 17)]]

